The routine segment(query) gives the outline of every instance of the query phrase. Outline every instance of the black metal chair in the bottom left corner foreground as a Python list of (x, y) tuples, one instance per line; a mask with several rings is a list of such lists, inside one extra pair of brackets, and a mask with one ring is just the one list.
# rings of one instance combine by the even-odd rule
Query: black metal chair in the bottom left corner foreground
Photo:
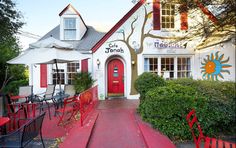
[(1, 147), (25, 147), (35, 137), (40, 135), (41, 142), (45, 148), (42, 138), (42, 124), (45, 112), (26, 122), (23, 126), (7, 135), (0, 136)]

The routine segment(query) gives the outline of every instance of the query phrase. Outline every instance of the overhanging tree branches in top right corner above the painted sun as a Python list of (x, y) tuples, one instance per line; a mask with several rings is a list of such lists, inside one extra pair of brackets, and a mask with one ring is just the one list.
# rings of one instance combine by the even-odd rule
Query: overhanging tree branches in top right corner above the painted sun
[[(177, 0), (176, 0), (177, 1)], [(166, 2), (173, 2), (166, 0)], [(213, 14), (212, 19), (204, 19), (209, 13), (203, 15), (203, 19), (195, 25), (195, 30), (191, 30), (187, 37), (203, 37), (214, 36), (216, 32), (221, 32), (221, 36), (235, 35), (236, 26), (236, 1), (235, 0), (178, 0), (177, 3), (184, 4), (186, 7), (179, 7), (179, 12), (185, 11), (187, 8), (189, 13), (195, 14), (196, 10), (209, 10)], [(197, 15), (197, 14), (195, 14)], [(196, 17), (196, 19), (198, 19)], [(214, 21), (215, 20), (215, 21)], [(200, 31), (202, 30), (202, 31)]]

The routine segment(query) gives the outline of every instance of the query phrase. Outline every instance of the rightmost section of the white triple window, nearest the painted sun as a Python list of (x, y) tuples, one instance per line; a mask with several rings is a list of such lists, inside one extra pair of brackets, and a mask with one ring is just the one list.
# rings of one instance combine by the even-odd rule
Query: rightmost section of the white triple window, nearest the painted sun
[(191, 62), (190, 58), (178, 58), (178, 78), (185, 78), (191, 76)]

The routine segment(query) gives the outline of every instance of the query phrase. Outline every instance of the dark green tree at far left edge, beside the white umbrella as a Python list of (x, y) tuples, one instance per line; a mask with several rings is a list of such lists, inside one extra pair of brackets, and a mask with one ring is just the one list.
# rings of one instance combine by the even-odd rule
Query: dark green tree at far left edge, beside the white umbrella
[(6, 62), (20, 53), (16, 33), (24, 24), (11, 0), (0, 0), (0, 92), (9, 81), (26, 79), (24, 66)]

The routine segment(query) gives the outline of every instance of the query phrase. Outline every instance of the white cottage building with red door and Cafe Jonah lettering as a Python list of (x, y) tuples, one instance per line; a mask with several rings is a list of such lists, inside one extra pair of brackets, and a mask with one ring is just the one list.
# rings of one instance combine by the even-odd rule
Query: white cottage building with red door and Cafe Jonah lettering
[[(235, 37), (214, 34), (208, 38), (188, 38), (202, 17), (216, 23), (209, 10), (179, 12), (176, 3), (139, 1), (109, 32), (87, 26), (73, 6), (60, 14), (60, 24), (42, 39), (53, 36), (71, 43), (81, 52), (81, 60), (59, 64), (62, 84), (71, 84), (73, 74), (92, 73), (98, 84), (99, 98), (138, 99), (134, 81), (143, 72), (166, 79), (192, 77), (235, 81)], [(195, 29), (195, 30), (194, 30)], [(201, 31), (201, 30), (198, 30)], [(39, 57), (40, 58), (40, 57)], [(58, 84), (54, 65), (31, 65), (30, 84), (42, 92), (47, 84)]]

